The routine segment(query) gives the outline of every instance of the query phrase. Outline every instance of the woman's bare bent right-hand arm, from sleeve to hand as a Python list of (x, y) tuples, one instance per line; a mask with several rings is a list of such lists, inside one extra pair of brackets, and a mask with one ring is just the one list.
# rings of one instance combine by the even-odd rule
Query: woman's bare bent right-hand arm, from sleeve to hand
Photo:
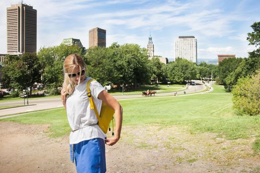
[(123, 119), (123, 108), (118, 103), (118, 101), (112, 95), (108, 94), (105, 90), (101, 91), (98, 97), (115, 111), (115, 135), (114, 137), (106, 139), (107, 145), (114, 145), (120, 138)]

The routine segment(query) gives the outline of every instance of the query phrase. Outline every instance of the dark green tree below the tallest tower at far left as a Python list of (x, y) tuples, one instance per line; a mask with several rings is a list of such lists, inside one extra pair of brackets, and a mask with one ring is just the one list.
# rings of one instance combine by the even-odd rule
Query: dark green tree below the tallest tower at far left
[(41, 82), (41, 66), (36, 53), (24, 53), (21, 57), (7, 55), (6, 65), (3, 67), (3, 85), (18, 90), (32, 88), (35, 83)]

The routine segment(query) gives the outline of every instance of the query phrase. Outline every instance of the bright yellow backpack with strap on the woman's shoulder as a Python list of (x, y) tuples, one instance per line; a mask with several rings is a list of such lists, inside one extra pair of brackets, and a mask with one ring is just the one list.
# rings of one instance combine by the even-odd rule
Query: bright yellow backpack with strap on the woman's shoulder
[(95, 102), (93, 101), (93, 98), (91, 95), (91, 90), (89, 88), (90, 83), (94, 80), (95, 79), (90, 79), (87, 83), (87, 94), (88, 94), (89, 101), (90, 101), (90, 109), (95, 110), (97, 119), (99, 121), (98, 125), (101, 128), (101, 130), (104, 131), (104, 133), (107, 133), (108, 128), (110, 131), (109, 124), (112, 121), (112, 135), (114, 135), (114, 124), (113, 124), (114, 109), (111, 108), (110, 106), (108, 106), (107, 104), (105, 104), (104, 102), (102, 102), (101, 111), (100, 111), (100, 115), (99, 115), (99, 112), (97, 110), (97, 107), (96, 107)]

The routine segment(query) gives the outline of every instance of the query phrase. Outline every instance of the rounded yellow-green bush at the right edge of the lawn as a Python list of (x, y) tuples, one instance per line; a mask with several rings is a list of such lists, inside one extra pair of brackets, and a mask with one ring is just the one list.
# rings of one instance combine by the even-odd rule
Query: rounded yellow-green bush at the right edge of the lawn
[(232, 93), (234, 108), (240, 114), (260, 115), (260, 71), (252, 78), (240, 78)]

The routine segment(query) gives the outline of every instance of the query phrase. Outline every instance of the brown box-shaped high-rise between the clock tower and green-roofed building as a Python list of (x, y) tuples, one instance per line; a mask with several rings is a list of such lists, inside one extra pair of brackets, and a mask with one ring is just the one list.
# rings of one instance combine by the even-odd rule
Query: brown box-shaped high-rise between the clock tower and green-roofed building
[(105, 47), (106, 31), (101, 28), (89, 30), (89, 47)]

